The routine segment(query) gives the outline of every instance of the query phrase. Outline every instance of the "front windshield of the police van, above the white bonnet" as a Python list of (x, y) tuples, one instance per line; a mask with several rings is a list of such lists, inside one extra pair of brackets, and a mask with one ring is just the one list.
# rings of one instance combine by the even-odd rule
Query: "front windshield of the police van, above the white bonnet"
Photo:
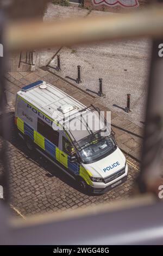
[(94, 139), (91, 143), (89, 136), (78, 143), (85, 143), (85, 145), (87, 145), (79, 152), (83, 163), (93, 163), (101, 160), (110, 155), (117, 148), (116, 143), (111, 136), (101, 137), (101, 139), (97, 140)]

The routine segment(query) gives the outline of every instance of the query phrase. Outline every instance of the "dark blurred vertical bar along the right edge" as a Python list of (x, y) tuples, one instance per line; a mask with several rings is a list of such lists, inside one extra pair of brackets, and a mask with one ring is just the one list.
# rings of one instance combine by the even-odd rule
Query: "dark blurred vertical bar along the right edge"
[(154, 192), (156, 196), (158, 196), (158, 188), (162, 182), (163, 58), (160, 58), (158, 54), (159, 44), (162, 44), (162, 42), (163, 39), (153, 42), (151, 70), (149, 72), (146, 126), (139, 176), (140, 191)]

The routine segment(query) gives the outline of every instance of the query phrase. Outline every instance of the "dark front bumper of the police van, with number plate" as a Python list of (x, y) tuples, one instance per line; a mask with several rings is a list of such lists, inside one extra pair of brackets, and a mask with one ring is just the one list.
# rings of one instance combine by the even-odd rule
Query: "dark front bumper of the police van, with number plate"
[(119, 179), (118, 181), (115, 181), (114, 183), (110, 184), (109, 186), (106, 186), (104, 188), (101, 187), (91, 187), (91, 192), (94, 194), (104, 194), (108, 192), (109, 190), (112, 190), (113, 188), (117, 187), (118, 185), (121, 185), (123, 182), (127, 180), (127, 175), (123, 178)]

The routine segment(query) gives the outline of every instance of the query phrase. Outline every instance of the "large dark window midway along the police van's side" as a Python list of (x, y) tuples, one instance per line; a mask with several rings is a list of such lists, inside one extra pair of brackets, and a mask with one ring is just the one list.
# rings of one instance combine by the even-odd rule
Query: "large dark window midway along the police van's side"
[(43, 137), (45, 137), (58, 147), (59, 132), (54, 131), (51, 126), (46, 124), (40, 118), (37, 118), (37, 132), (39, 132)]

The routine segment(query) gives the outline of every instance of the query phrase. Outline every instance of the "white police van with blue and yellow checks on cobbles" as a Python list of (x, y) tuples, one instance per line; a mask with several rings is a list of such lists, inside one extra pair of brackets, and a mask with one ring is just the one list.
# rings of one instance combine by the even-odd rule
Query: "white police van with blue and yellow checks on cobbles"
[[(106, 127), (89, 129), (85, 116), (90, 119), (94, 112), (98, 119), (95, 106), (85, 107), (52, 84), (37, 81), (17, 93), (15, 124), (29, 150), (39, 151), (83, 191), (105, 193), (127, 180), (128, 166), (106, 120)], [(79, 124), (85, 129), (74, 129)]]

